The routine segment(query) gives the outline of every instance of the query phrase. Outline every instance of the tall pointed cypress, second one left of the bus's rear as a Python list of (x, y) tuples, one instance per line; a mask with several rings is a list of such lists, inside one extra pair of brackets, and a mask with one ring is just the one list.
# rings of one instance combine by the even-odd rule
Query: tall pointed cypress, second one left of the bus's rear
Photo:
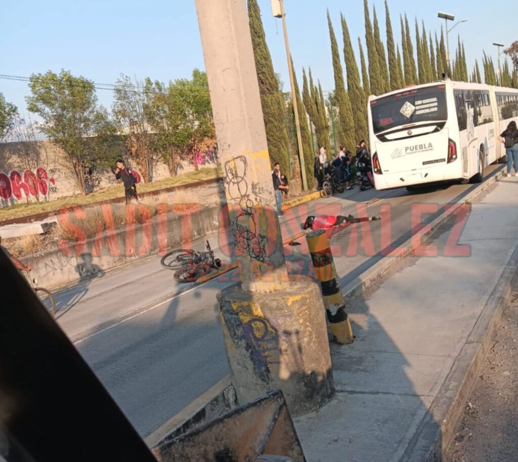
[[(343, 19), (343, 18), (342, 18)], [(327, 23), (329, 25), (329, 38), (331, 40), (331, 53), (333, 55), (333, 70), (335, 74), (335, 96), (338, 102), (338, 139), (339, 144), (354, 146), (354, 122), (351, 101), (346, 92), (346, 85), (343, 81), (342, 65), (338, 52), (338, 42), (336, 41), (333, 23), (327, 11)]]

